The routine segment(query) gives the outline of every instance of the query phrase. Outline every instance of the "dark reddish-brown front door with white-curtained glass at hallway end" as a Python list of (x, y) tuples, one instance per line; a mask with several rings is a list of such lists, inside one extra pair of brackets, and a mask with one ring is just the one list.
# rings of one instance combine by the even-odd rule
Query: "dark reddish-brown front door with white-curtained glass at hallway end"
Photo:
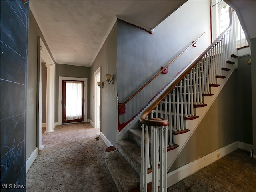
[(62, 80), (62, 123), (84, 122), (84, 81)]

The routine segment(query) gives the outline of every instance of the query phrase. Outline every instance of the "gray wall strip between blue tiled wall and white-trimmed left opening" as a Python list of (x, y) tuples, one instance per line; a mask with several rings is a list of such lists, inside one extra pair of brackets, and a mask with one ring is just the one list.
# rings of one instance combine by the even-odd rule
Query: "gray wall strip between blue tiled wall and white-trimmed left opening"
[[(44, 45), (48, 52), (49, 48), (44, 40), (42, 32), (40, 31), (36, 20), (29, 12), (29, 30), (28, 30), (28, 86), (27, 86), (27, 159), (35, 150), (37, 144), (37, 130), (38, 130), (38, 90), (39, 86), (39, 66), (38, 66), (38, 36), (42, 38)], [(44, 93), (42, 94), (42, 96)]]

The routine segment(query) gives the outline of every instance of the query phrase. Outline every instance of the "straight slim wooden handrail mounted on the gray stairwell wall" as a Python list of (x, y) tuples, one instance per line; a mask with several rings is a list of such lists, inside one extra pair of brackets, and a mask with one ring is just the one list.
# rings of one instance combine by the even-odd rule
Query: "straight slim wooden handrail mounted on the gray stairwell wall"
[(206, 32), (204, 32), (200, 37), (198, 37), (195, 41), (193, 41), (186, 49), (184, 49), (178, 56), (176, 56), (171, 62), (169, 62), (164, 68), (162, 68), (157, 74), (155, 74), (148, 82), (146, 82), (143, 86), (141, 86), (134, 94), (132, 94), (125, 102), (123, 102), (120, 106), (119, 109), (121, 109), (126, 103), (128, 103), (134, 96), (136, 96), (142, 89), (144, 89), (152, 80), (154, 80), (159, 74), (161, 74), (170, 64), (172, 64), (176, 59), (178, 59), (188, 48), (193, 46)]

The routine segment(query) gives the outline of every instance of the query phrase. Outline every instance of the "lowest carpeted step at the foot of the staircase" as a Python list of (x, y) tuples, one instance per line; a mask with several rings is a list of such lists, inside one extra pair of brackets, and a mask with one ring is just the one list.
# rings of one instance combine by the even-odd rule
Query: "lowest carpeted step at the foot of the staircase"
[(119, 151), (104, 153), (105, 162), (119, 192), (129, 192), (140, 186), (140, 176)]

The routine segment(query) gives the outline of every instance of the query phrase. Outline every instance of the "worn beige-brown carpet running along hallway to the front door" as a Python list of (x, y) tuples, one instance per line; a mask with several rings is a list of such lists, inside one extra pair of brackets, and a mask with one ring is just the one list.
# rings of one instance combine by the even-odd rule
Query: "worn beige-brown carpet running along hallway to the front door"
[(56, 126), (42, 134), (46, 146), (28, 170), (27, 192), (117, 192), (105, 164), (100, 130), (89, 123)]

